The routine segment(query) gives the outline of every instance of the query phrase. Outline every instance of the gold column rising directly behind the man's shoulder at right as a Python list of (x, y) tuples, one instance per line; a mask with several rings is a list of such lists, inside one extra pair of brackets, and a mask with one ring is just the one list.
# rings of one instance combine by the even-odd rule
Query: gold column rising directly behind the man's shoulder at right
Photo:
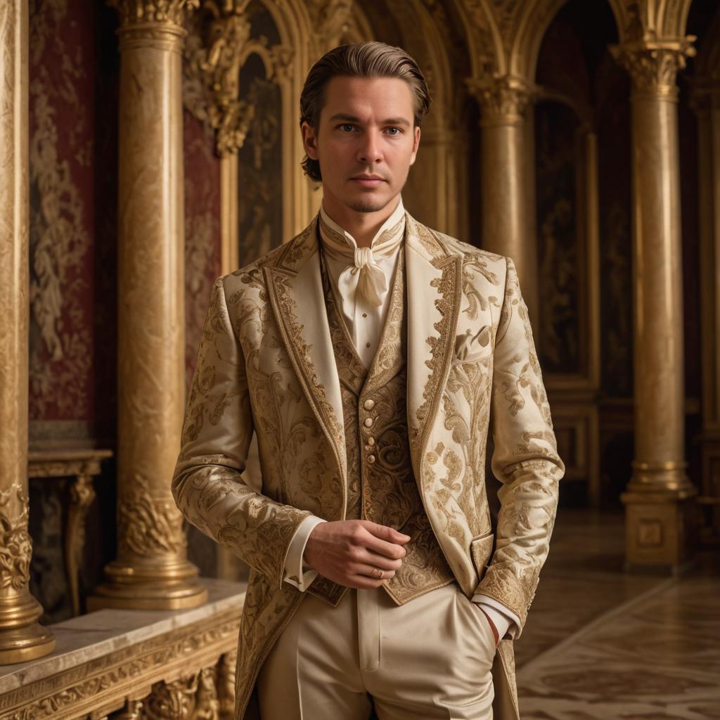
[(528, 207), (534, 158), (528, 158), (525, 117), (530, 92), (521, 78), (510, 76), (471, 80), (468, 87), (481, 112), (482, 248), (513, 258), (535, 326), (537, 249), (534, 209)]

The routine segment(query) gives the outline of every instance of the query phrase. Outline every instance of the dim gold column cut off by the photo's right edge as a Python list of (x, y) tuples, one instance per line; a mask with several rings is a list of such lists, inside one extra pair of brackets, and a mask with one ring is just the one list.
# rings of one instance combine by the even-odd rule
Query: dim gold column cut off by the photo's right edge
[(693, 83), (698, 116), (702, 346), (702, 490), (711, 537), (720, 537), (720, 83)]

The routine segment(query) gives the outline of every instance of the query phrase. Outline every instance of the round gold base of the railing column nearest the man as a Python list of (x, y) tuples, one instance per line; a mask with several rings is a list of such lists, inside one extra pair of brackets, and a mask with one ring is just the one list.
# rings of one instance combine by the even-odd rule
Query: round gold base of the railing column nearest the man
[(166, 567), (132, 565), (115, 560), (105, 568), (107, 582), (87, 599), (88, 612), (103, 608), (181, 610), (207, 602), (198, 570), (183, 561)]

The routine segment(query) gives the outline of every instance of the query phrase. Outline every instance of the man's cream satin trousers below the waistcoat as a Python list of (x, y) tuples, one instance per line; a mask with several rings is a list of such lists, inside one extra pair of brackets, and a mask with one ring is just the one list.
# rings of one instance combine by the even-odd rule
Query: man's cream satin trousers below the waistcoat
[[(492, 720), (495, 639), (456, 582), (397, 606), (307, 595), (257, 680), (262, 720)], [(372, 696), (372, 698), (371, 698)]]

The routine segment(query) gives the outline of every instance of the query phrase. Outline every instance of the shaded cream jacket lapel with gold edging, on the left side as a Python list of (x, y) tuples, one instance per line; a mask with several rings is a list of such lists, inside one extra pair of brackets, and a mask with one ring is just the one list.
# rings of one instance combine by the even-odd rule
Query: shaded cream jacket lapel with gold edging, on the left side
[[(345, 431), (338, 369), (325, 311), (317, 217), (287, 243), (265, 276), (271, 306), (307, 402), (325, 433), (346, 487)], [(344, 492), (344, 490), (343, 490)], [(344, 500), (343, 500), (344, 506)]]

